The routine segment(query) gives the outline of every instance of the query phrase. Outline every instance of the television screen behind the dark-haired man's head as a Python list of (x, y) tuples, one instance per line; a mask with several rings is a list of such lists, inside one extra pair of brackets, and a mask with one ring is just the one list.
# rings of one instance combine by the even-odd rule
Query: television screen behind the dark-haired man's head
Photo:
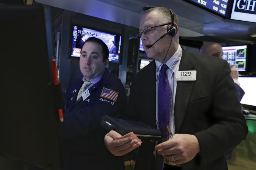
[(93, 29), (83, 28), (73, 25), (72, 36), (72, 57), (80, 57), (81, 48), (84, 41), (89, 37), (97, 37), (105, 42), (108, 46), (109, 56), (108, 60), (111, 63), (119, 63), (121, 50), (121, 36), (110, 34), (107, 32), (96, 31)]

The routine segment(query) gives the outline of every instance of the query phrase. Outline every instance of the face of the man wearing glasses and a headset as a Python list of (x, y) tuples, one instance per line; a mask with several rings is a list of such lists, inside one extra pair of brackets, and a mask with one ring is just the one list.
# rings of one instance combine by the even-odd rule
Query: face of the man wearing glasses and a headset
[[(139, 32), (143, 32), (145, 28), (148, 26), (157, 26), (166, 23), (162, 23), (159, 14), (156, 11), (151, 11), (146, 13), (140, 19), (140, 29)], [(141, 40), (142, 46), (147, 53), (149, 58), (155, 59), (156, 57), (164, 57), (167, 53), (168, 47), (170, 45), (170, 36), (167, 35), (164, 38), (160, 39), (156, 42), (151, 48), (147, 48), (147, 46), (153, 44), (156, 40), (160, 38), (160, 36), (164, 35), (167, 31), (167, 25), (153, 28), (152, 35), (145, 35), (142, 33)]]

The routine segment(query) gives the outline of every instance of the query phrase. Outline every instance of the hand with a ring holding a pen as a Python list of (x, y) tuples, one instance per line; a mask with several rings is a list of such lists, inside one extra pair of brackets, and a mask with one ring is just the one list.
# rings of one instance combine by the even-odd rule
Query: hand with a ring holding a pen
[(159, 155), (163, 155), (165, 159), (172, 161), (172, 163), (183, 164), (193, 159), (200, 151), (200, 147), (196, 136), (192, 134), (175, 134), (173, 139), (156, 145), (155, 150)]

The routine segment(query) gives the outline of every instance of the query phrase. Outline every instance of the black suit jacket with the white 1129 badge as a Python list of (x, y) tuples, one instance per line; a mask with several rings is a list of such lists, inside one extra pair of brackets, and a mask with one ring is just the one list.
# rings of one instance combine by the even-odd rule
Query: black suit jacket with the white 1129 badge
[[(194, 134), (200, 154), (182, 164), (183, 170), (227, 169), (224, 154), (245, 139), (248, 128), (241, 113), (236, 87), (226, 61), (183, 50), (179, 70), (196, 70), (195, 81), (178, 81), (175, 98), (175, 133)], [(131, 86), (128, 116), (156, 128), (156, 66), (140, 70)], [(155, 142), (143, 140), (136, 170), (156, 169)]]

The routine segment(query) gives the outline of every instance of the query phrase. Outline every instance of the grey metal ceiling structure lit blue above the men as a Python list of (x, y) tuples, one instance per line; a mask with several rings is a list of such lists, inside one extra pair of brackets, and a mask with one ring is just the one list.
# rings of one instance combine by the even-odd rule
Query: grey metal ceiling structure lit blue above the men
[(94, 16), (138, 28), (142, 8), (163, 6), (173, 9), (180, 21), (180, 36), (194, 40), (227, 40), (254, 43), (256, 23), (224, 19), (182, 0), (36, 0), (41, 4)]

